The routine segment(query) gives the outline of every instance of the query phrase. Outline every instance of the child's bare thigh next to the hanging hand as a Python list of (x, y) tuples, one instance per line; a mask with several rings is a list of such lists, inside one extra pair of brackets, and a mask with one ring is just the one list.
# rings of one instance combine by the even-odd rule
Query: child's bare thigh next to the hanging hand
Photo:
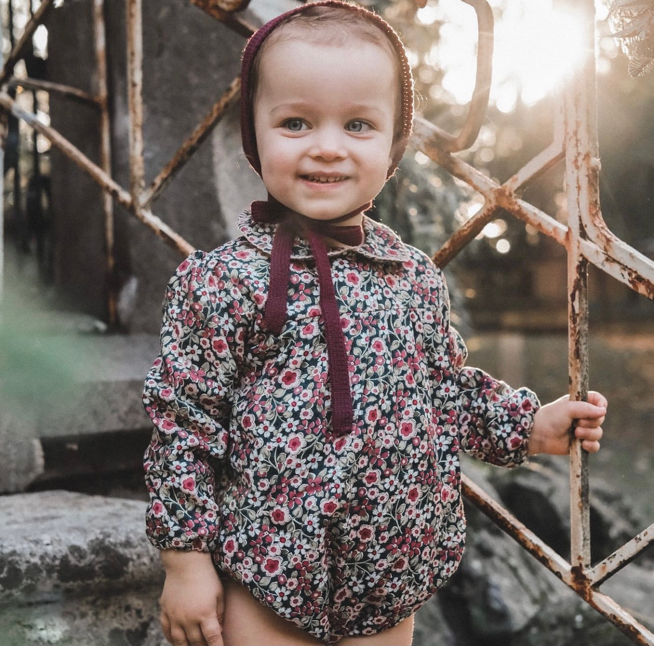
[(259, 603), (240, 583), (224, 577), (222, 585), (225, 646), (324, 646), (322, 641)]

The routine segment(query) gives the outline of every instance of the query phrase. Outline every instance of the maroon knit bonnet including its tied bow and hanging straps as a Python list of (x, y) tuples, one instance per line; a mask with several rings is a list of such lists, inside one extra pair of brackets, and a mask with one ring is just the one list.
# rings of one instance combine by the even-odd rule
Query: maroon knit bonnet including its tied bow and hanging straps
[[(394, 137), (393, 156), (388, 177), (396, 170), (411, 135), (413, 124), (413, 79), (411, 67), (404, 50), (404, 45), (394, 29), (377, 14), (358, 5), (341, 2), (340, 0), (323, 0), (316, 3), (301, 5), (292, 9), (260, 27), (250, 37), (243, 52), (241, 67), (241, 137), (243, 151), (250, 166), (261, 175), (261, 162), (256, 147), (254, 132), (254, 106), (252, 105), (252, 66), (262, 43), (277, 27), (284, 24), (290, 16), (310, 12), (313, 7), (337, 7), (363, 15), (368, 22), (379, 27), (388, 38), (388, 42), (397, 56), (400, 69), (400, 101), (402, 106), (402, 128)], [(398, 126), (396, 126), (397, 128)], [(353, 403), (349, 383), (349, 367), (345, 336), (341, 327), (340, 314), (327, 249), (323, 236), (328, 236), (343, 244), (357, 246), (364, 241), (364, 230), (359, 226), (339, 226), (357, 213), (366, 211), (372, 203), (364, 204), (350, 213), (330, 221), (313, 220), (301, 213), (296, 213), (280, 204), (271, 195), (267, 202), (252, 202), (252, 220), (255, 223), (277, 224), (273, 238), (273, 249), (270, 257), (270, 278), (268, 297), (264, 314), (264, 327), (279, 334), (286, 322), (286, 299), (288, 298), (288, 274), (290, 255), (296, 237), (305, 238), (311, 245), (313, 259), (318, 272), (320, 286), (320, 310), (324, 320), (324, 331), (328, 353), (328, 377), (332, 395), (332, 429), (336, 435), (349, 433), (353, 428)]]

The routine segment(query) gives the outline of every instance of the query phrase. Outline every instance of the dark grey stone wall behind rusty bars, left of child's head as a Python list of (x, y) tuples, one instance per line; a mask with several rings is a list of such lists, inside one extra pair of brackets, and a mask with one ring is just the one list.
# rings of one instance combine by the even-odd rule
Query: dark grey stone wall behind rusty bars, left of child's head
[[(92, 0), (69, 0), (49, 14), (48, 78), (88, 92), (95, 89)], [(247, 14), (259, 24), (292, 6), (265, 0)], [(125, 8), (105, 4), (112, 175), (128, 186), (128, 99)], [(181, 0), (143, 2), (144, 139), (146, 185), (239, 73), (245, 41), (205, 12)], [(54, 128), (84, 154), (99, 160), (98, 115), (92, 107), (52, 95)], [(167, 190), (153, 212), (201, 249), (235, 234), (239, 210), (261, 196), (258, 178), (240, 152), (234, 111), (218, 126)], [(58, 151), (52, 151), (56, 282), (71, 308), (106, 319), (103, 213), (99, 188)], [(131, 291), (122, 324), (156, 332), (163, 290), (181, 257), (116, 206), (119, 287)], [(128, 292), (124, 292), (128, 296)]]

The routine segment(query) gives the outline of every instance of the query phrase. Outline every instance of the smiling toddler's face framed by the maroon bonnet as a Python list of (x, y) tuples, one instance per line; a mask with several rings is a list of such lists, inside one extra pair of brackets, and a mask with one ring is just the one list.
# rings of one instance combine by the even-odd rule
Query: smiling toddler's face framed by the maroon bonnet
[(328, 220), (370, 202), (386, 181), (399, 89), (382, 46), (282, 40), (260, 62), (254, 130), (268, 192)]

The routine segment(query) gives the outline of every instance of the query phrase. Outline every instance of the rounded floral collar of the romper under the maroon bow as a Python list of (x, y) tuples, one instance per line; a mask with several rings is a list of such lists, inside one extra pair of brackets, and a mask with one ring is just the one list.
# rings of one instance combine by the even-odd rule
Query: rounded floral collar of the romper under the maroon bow
[[(273, 249), (273, 236), (277, 224), (253, 223), (249, 209), (239, 215), (237, 225), (241, 235), (259, 251), (265, 255), (271, 255)], [(364, 215), (363, 219), (365, 239), (358, 247), (346, 249), (328, 249), (330, 257), (343, 255), (354, 251), (371, 260), (383, 262), (406, 262), (409, 260), (409, 251), (391, 228), (381, 224)], [(301, 238), (296, 238), (291, 251), (291, 260), (304, 260), (313, 258), (309, 243)]]

